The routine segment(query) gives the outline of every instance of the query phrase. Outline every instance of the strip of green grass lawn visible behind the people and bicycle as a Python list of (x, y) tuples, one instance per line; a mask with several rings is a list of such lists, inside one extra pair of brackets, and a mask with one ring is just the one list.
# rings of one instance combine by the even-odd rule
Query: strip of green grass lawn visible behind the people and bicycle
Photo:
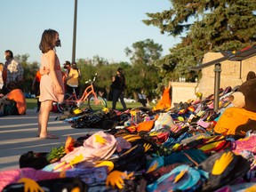
[[(28, 99), (26, 98), (27, 101), (27, 108), (36, 108), (36, 99)], [(112, 108), (112, 101), (108, 101), (108, 108)], [(154, 106), (154, 104), (150, 103), (151, 107)], [(126, 102), (126, 107), (127, 108), (139, 108), (141, 107), (142, 104), (140, 102)], [(116, 103), (116, 109), (123, 109), (122, 105), (120, 102)]]

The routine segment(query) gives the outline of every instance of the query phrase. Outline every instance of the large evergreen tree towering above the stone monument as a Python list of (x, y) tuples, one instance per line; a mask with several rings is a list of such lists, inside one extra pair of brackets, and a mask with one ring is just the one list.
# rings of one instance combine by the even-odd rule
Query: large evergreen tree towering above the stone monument
[(201, 63), (204, 53), (240, 50), (255, 44), (255, 0), (170, 0), (170, 10), (147, 13), (147, 25), (170, 36), (180, 36), (180, 44), (156, 63), (161, 75), (188, 74)]

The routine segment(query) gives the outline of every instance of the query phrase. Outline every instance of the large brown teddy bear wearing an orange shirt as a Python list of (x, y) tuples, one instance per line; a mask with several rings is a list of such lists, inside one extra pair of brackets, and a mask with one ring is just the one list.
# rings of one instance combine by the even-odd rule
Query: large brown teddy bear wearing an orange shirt
[(256, 131), (256, 75), (250, 71), (246, 81), (229, 96), (234, 107), (227, 108), (214, 127), (214, 132), (244, 137)]

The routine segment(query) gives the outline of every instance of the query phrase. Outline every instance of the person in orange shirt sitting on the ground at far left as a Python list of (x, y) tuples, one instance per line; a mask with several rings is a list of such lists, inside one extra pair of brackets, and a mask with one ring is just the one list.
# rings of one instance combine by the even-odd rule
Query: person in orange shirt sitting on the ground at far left
[(7, 84), (8, 92), (0, 100), (0, 116), (26, 115), (27, 103), (24, 93), (14, 82)]

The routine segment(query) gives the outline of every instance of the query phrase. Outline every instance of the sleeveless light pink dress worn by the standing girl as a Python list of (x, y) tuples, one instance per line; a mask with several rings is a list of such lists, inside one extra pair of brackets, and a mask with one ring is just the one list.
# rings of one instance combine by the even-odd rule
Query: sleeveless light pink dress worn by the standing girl
[[(42, 58), (41, 58), (41, 68), (49, 68), (49, 61), (46, 58), (46, 55), (43, 54)], [(60, 68), (60, 60), (58, 58), (58, 56), (56, 55), (56, 60), (55, 60), (55, 64), (54, 64), (54, 70), (57, 76), (57, 79), (59, 81), (59, 84), (63, 90), (63, 92), (65, 92), (64, 90), (64, 83), (62, 81), (62, 72), (61, 72), (61, 68)], [(51, 73), (51, 71), (50, 71)], [(62, 102), (64, 100), (64, 93), (63, 94), (59, 94), (54, 92), (55, 86), (52, 83), (52, 77), (51, 74), (49, 75), (43, 75), (41, 77), (41, 82), (40, 82), (40, 96), (39, 96), (39, 101), (45, 101), (45, 100), (53, 100), (55, 102)]]

